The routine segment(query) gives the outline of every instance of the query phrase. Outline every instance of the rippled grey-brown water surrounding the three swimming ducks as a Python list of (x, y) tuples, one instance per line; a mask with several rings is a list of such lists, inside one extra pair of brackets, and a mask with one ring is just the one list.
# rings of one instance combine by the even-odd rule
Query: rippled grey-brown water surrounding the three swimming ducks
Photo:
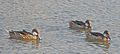
[[(111, 32), (109, 48), (68, 28), (91, 19), (93, 30)], [(10, 30), (41, 31), (39, 46), (8, 39)], [(120, 0), (0, 0), (0, 54), (119, 54)]]

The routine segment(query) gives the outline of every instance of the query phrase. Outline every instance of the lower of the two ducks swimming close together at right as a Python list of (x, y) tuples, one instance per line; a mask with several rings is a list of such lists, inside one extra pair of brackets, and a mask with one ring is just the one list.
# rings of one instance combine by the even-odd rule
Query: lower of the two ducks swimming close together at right
[(103, 34), (100, 32), (87, 32), (86, 36), (89, 39), (96, 39), (103, 42), (109, 42), (111, 40), (110, 32), (107, 30), (105, 30)]

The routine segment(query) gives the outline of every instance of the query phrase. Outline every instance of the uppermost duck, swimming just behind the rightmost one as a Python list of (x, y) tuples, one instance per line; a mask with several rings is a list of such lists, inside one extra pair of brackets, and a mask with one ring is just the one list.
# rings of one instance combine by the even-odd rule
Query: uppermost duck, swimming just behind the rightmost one
[(75, 21), (72, 20), (69, 22), (69, 27), (73, 29), (78, 29), (78, 28), (80, 29), (90, 28), (91, 29), (91, 21), (86, 20), (85, 22), (82, 22), (78, 20), (75, 20)]

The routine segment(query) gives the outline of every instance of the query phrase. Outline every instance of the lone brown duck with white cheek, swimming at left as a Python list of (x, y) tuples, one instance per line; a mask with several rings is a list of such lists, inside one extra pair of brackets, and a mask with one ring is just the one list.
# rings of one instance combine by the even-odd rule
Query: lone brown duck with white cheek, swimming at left
[(39, 40), (39, 32), (37, 29), (33, 29), (32, 33), (23, 31), (9, 31), (9, 39), (17, 39), (17, 40)]

